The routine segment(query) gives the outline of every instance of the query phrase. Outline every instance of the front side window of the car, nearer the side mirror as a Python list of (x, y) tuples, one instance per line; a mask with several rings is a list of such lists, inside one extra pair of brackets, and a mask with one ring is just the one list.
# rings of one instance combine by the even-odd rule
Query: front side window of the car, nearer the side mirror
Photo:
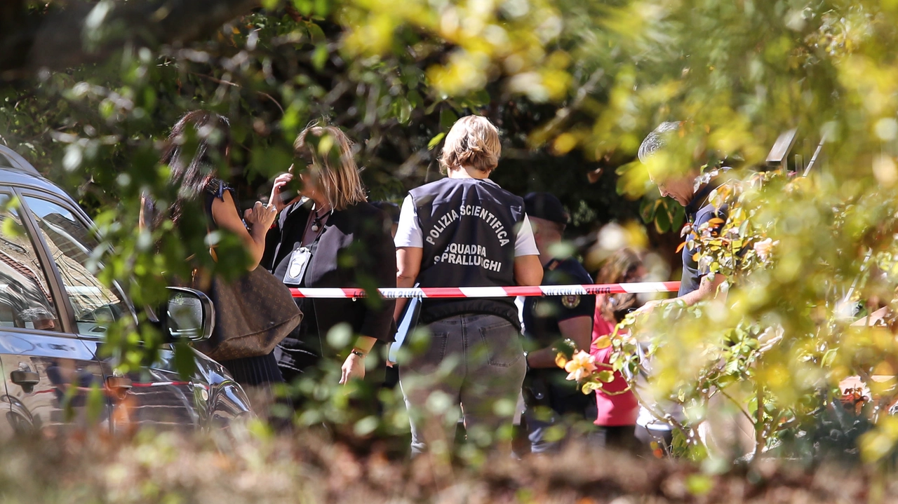
[(104, 335), (110, 321), (128, 314), (128, 306), (88, 269), (88, 260), (96, 247), (91, 231), (59, 204), (33, 196), (24, 196), (24, 200), (56, 262), (75, 310), (78, 334)]

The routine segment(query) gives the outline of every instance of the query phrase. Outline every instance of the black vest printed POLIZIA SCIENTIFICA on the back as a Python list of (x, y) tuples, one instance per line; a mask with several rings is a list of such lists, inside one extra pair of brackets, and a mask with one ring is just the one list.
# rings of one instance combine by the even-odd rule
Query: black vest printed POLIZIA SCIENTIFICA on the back
[[(409, 192), (423, 234), (420, 287), (515, 285), (515, 237), (524, 200), (489, 179), (443, 178)], [(514, 298), (423, 300), (429, 324), (483, 313), (520, 326)]]

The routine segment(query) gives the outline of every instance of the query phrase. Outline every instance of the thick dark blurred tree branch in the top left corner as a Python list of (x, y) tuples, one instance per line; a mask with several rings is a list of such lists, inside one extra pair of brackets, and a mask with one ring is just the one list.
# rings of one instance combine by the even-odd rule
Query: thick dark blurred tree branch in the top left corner
[(202, 39), (258, 5), (259, 0), (101, 0), (46, 14), (11, 9), (14, 21), (0, 31), (0, 80), (100, 62), (128, 44), (156, 48)]

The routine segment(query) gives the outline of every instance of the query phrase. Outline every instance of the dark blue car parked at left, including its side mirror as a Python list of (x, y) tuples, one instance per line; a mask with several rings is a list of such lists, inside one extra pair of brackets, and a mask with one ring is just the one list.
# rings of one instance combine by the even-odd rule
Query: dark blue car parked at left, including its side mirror
[[(91, 228), (72, 198), (0, 145), (0, 438), (88, 424), (203, 429), (251, 416), (242, 388), (200, 352), (186, 379), (169, 347), (152, 367), (114, 370), (100, 352), (104, 335), (111, 320), (136, 322), (136, 311), (90, 272)], [(172, 288), (165, 315), (172, 337), (194, 341), (215, 319), (204, 294), (182, 288)]]

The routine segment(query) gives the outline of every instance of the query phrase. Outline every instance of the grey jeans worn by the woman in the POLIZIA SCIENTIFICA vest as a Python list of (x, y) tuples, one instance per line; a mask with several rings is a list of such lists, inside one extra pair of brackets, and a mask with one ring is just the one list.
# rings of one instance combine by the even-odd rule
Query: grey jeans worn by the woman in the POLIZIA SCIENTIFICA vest
[(428, 329), (427, 350), (400, 366), (412, 455), (448, 453), (459, 405), (469, 440), (510, 452), (511, 422), (526, 372), (517, 329), (495, 315), (447, 317)]

